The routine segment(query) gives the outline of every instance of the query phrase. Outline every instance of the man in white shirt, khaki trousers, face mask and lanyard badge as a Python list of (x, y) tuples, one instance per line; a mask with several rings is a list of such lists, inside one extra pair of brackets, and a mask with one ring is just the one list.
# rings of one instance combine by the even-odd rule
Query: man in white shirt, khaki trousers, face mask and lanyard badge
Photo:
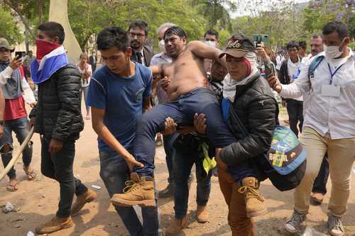
[(324, 52), (302, 67), (295, 83), (283, 85), (275, 77), (268, 80), (283, 97), (308, 96), (300, 138), (307, 150), (307, 167), (305, 176), (295, 189), (294, 212), (285, 222), (285, 229), (297, 232), (305, 221), (312, 184), (324, 154), (328, 152), (332, 179), (328, 230), (330, 235), (339, 236), (344, 235), (341, 218), (346, 212), (351, 167), (355, 159), (355, 57), (347, 47), (350, 38), (346, 24), (329, 22), (322, 34)]

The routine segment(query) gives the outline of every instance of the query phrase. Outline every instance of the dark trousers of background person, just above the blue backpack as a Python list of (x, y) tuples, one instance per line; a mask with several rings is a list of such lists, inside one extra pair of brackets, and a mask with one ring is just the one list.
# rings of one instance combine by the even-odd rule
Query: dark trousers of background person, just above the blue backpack
[(303, 126), (303, 101), (297, 101), (295, 99), (287, 99), (286, 107), (288, 109), (288, 119), (290, 121), (290, 129), (293, 130), (293, 133), (298, 137), (298, 128), (300, 133), (302, 133)]

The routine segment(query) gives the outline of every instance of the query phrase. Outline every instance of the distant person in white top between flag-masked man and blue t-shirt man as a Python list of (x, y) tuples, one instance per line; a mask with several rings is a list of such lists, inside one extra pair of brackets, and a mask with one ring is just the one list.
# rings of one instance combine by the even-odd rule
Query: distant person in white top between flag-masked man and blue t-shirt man
[(87, 63), (87, 54), (82, 53), (80, 55), (80, 62), (77, 64), (77, 68), (82, 73), (82, 94), (84, 95), (85, 108), (87, 115), (85, 116), (87, 120), (90, 119), (90, 107), (86, 105), (87, 101), (87, 91), (89, 90), (90, 79), (92, 76), (92, 66)]

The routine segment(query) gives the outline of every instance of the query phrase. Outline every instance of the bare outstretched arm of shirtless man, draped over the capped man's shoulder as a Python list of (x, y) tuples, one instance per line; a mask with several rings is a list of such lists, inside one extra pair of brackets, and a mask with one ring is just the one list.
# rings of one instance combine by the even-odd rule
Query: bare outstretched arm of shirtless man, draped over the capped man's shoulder
[(219, 64), (222, 64), (222, 66), (226, 68), (226, 60), (219, 58), (222, 51), (216, 47), (210, 47), (200, 41), (191, 41), (187, 44), (187, 49), (197, 55), (197, 57), (216, 60)]

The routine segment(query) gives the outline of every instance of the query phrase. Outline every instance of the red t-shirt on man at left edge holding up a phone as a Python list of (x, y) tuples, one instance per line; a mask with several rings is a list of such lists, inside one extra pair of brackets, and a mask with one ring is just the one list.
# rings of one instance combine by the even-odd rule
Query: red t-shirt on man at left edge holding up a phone
[(23, 117), (27, 117), (23, 96), (21, 95), (17, 99), (5, 99), (4, 120), (15, 120)]

